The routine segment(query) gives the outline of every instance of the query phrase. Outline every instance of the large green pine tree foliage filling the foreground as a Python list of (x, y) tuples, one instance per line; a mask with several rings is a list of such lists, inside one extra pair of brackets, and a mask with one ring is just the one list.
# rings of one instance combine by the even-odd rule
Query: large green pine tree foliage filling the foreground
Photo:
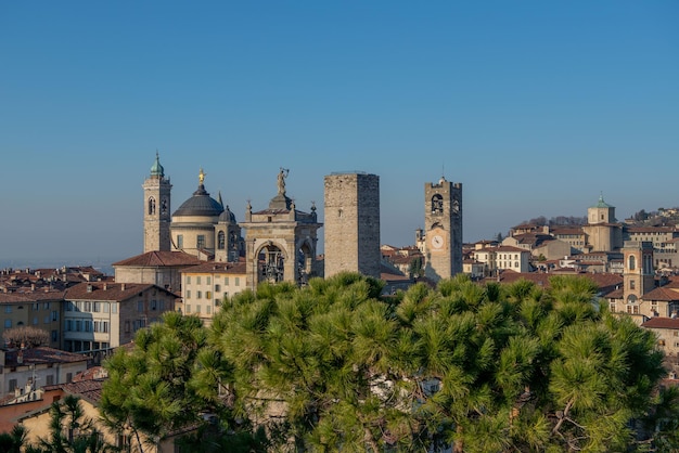
[(104, 414), (146, 439), (197, 427), (203, 451), (679, 448), (655, 337), (589, 280), (382, 288), (342, 273), (236, 295), (209, 328), (166, 315), (108, 361)]

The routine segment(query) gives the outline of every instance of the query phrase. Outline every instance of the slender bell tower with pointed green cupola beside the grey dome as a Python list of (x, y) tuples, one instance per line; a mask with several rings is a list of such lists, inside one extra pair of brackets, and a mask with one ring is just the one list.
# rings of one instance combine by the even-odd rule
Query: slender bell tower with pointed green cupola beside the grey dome
[(144, 181), (144, 254), (170, 249), (170, 191), (172, 184), (165, 178), (158, 153)]

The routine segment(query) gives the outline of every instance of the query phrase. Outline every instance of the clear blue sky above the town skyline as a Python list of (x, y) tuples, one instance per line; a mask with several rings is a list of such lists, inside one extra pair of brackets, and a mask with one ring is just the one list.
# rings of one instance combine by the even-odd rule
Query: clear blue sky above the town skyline
[(325, 174), (376, 173), (397, 246), (441, 173), (466, 242), (600, 194), (679, 206), (678, 24), (674, 0), (0, 2), (0, 262), (140, 254), (156, 150), (172, 210), (203, 168), (238, 220), (280, 167), (321, 221)]

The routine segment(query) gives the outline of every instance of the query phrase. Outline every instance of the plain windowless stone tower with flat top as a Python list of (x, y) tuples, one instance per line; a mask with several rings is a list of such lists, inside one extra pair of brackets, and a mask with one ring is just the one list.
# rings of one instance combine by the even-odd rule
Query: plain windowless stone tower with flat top
[(342, 271), (380, 279), (380, 177), (325, 177), (325, 277)]

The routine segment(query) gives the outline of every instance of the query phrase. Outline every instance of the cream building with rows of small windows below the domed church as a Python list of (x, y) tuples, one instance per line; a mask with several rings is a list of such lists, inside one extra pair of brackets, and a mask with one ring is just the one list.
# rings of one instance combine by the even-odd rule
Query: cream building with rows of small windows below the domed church
[(222, 303), (247, 287), (245, 262), (205, 262), (181, 273), (183, 312), (197, 315), (205, 325)]

